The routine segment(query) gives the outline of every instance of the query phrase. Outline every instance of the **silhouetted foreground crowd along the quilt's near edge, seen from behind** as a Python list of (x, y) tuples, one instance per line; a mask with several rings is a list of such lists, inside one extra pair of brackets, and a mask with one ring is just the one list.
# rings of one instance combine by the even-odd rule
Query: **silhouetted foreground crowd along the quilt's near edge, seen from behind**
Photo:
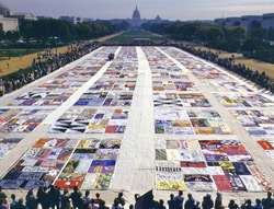
[[(148, 194), (148, 193), (147, 193)], [(216, 193), (216, 198), (213, 199), (212, 194), (207, 193), (203, 200), (194, 199), (191, 193), (187, 194), (187, 198), (184, 197), (183, 191), (179, 190), (178, 195), (170, 194), (170, 199), (164, 204), (163, 199), (156, 201), (153, 195), (145, 197), (138, 194), (135, 195), (135, 205), (129, 205), (123, 197), (123, 193), (118, 193), (118, 196), (114, 198), (111, 207), (106, 206), (106, 202), (100, 198), (100, 194), (96, 193), (95, 197), (90, 197), (90, 191), (85, 190), (84, 195), (79, 190), (77, 186), (73, 187), (72, 193), (68, 189), (62, 191), (58, 186), (49, 186), (49, 188), (39, 187), (36, 196), (33, 189), (28, 190), (25, 199), (16, 199), (14, 194), (11, 195), (12, 201), (8, 204), (7, 195), (0, 187), (0, 209), (273, 209), (274, 198), (272, 193), (267, 193), (267, 197), (263, 199), (255, 199), (252, 202), (251, 199), (247, 199), (242, 205), (238, 205), (233, 199), (230, 199), (228, 206), (222, 204), (222, 194)], [(152, 190), (151, 190), (152, 194)], [(141, 201), (138, 202), (138, 201)], [(126, 205), (127, 204), (127, 205)], [(129, 206), (128, 206), (129, 205)], [(126, 207), (128, 206), (128, 207)]]

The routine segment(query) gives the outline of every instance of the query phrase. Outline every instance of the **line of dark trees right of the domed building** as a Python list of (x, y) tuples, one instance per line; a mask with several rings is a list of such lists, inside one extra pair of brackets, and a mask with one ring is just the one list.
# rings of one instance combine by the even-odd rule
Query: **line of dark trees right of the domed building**
[[(147, 26), (147, 25), (145, 25)], [(173, 24), (151, 24), (153, 33), (187, 42), (201, 42), (205, 46), (274, 63), (274, 28), (255, 27), (251, 33), (242, 26), (225, 27), (201, 22), (176, 22)]]

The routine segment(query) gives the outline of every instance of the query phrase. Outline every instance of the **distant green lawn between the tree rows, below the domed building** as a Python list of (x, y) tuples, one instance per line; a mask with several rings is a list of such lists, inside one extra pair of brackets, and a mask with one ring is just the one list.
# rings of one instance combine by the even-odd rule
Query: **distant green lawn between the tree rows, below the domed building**
[(125, 32), (115, 37), (104, 40), (105, 43), (130, 42), (134, 38), (150, 38), (153, 42), (161, 42), (162, 38), (148, 32)]

